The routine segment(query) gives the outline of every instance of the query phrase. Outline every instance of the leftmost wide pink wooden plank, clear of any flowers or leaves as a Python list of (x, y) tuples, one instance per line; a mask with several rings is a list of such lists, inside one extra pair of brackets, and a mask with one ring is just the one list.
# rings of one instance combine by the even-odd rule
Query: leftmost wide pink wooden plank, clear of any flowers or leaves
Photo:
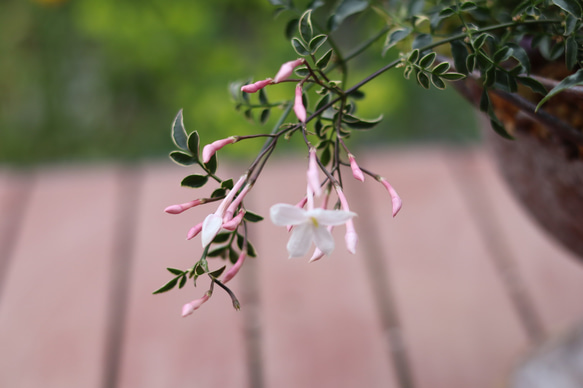
[(0, 305), (0, 386), (99, 386), (115, 189), (111, 169), (37, 172)]

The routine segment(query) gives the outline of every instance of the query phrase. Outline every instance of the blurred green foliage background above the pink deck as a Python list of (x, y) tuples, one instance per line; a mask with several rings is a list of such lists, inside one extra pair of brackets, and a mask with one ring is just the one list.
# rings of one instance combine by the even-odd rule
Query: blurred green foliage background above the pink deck
[[(268, 130), (235, 111), (228, 85), (273, 77), (297, 57), (284, 35), (295, 16), (274, 17), (267, 0), (2, 0), (0, 163), (163, 157), (180, 108), (203, 143)], [(381, 27), (369, 11), (334, 38), (348, 52)], [(348, 86), (390, 60), (383, 40), (351, 62)], [(272, 89), (276, 100), (292, 90)], [(474, 112), (451, 87), (426, 91), (396, 69), (364, 91), (360, 116), (385, 120), (353, 144), (477, 139)]]

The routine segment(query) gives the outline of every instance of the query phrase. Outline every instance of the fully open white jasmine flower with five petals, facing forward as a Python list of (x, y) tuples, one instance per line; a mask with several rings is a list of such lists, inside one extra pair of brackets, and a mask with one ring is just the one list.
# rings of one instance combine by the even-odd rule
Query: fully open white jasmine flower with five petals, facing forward
[(327, 226), (342, 225), (356, 213), (344, 210), (321, 208), (304, 210), (299, 207), (278, 203), (270, 209), (271, 221), (278, 226), (292, 225), (292, 235), (287, 243), (289, 257), (304, 256), (312, 241), (324, 254), (334, 250), (334, 238)]

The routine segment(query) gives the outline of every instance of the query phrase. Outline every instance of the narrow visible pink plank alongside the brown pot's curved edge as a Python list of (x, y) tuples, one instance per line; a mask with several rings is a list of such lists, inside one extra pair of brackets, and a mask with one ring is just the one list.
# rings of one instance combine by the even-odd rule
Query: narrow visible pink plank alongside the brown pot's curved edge
[(513, 255), (545, 328), (550, 336), (564, 332), (583, 319), (583, 263), (530, 218), (505, 187), (493, 160), (481, 158), (476, 172), (489, 182), (501, 232), (513, 242)]

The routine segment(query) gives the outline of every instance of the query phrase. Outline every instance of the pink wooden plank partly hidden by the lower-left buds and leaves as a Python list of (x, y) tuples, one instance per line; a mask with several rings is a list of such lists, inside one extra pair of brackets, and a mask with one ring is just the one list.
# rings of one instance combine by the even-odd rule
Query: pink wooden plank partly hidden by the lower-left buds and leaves
[[(119, 380), (122, 387), (244, 386), (248, 378), (242, 314), (233, 309), (222, 290), (215, 287), (213, 297), (187, 318), (181, 317), (182, 305), (205, 293), (206, 279), (201, 278), (196, 288), (189, 282), (181, 290), (152, 295), (170, 280), (166, 267), (186, 269), (198, 260), (200, 238), (186, 241), (186, 233), (216, 208), (209, 204), (180, 215), (163, 212), (168, 205), (207, 193), (206, 188), (180, 187), (189, 173), (195, 172), (170, 162), (144, 166)], [(222, 265), (212, 260), (209, 264)], [(237, 278), (229, 285), (240, 291)]]

